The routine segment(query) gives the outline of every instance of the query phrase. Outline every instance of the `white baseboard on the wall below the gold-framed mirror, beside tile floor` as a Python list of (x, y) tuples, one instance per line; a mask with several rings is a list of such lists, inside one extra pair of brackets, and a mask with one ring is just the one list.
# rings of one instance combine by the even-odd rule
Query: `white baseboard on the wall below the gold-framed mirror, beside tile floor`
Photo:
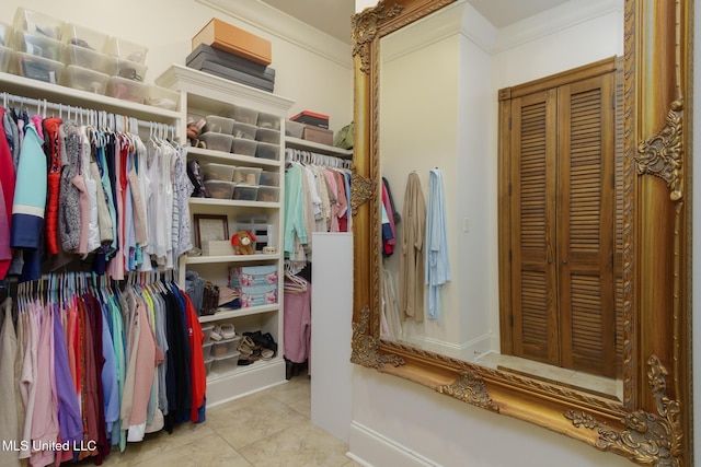
[(346, 455), (365, 467), (438, 466), (438, 464), (421, 454), (356, 421), (350, 422), (348, 439), (348, 453)]

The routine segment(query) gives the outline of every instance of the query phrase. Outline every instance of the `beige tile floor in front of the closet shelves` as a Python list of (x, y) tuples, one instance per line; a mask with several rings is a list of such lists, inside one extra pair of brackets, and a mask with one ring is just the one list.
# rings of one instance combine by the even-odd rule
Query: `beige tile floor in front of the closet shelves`
[[(103, 466), (354, 467), (348, 445), (311, 422), (311, 381), (286, 384), (207, 410), (207, 421), (147, 435)], [(90, 463), (92, 465), (92, 463)]]

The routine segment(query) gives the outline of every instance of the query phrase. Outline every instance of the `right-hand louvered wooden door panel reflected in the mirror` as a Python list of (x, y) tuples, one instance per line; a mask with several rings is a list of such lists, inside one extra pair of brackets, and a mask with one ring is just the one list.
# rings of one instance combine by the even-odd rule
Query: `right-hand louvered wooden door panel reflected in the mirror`
[(561, 365), (611, 377), (616, 376), (613, 78), (609, 73), (558, 89)]

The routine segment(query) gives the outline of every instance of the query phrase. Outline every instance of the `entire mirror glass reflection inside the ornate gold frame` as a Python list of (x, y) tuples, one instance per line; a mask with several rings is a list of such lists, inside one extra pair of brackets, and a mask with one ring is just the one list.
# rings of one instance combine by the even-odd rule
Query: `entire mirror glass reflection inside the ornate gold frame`
[(480, 3), (380, 39), (381, 337), (621, 400), (623, 0)]

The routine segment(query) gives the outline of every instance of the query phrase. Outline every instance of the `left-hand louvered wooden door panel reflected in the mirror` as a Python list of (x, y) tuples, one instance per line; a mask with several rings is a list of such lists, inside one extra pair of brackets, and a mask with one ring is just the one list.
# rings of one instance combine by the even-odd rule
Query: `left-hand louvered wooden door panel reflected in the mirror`
[(560, 364), (556, 264), (556, 90), (512, 101), (514, 353)]

